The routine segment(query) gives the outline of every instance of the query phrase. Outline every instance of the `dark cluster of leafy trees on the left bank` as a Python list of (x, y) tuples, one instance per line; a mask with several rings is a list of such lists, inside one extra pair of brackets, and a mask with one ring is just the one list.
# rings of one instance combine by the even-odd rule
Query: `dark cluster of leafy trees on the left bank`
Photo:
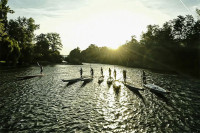
[(62, 48), (58, 33), (36, 36), (39, 29), (33, 18), (18, 17), (8, 20), (8, 13), (14, 11), (7, 5), (8, 0), (0, 1), (0, 61), (6, 65), (27, 65), (37, 61), (57, 63), (62, 61), (59, 50)]

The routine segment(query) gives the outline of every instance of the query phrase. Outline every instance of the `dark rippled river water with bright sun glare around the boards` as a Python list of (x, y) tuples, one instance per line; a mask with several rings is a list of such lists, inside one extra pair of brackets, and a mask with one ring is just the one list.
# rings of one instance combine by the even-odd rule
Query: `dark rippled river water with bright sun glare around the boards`
[[(83, 65), (83, 75), (90, 65)], [(115, 91), (98, 84), (101, 65), (93, 64), (95, 78), (71, 85), (62, 79), (79, 77), (80, 66), (44, 67), (44, 77), (16, 81), (15, 76), (38, 74), (38, 67), (0, 69), (0, 132), (200, 132), (200, 82), (176, 75), (146, 71), (147, 82), (171, 94), (163, 96)], [(108, 76), (105, 65), (104, 73)], [(141, 70), (115, 66), (117, 79), (128, 71), (128, 81), (141, 87)]]

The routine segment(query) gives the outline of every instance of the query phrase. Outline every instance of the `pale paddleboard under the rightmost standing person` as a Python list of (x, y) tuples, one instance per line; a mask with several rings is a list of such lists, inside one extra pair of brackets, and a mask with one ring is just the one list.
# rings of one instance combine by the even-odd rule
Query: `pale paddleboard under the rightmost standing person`
[(170, 93), (170, 91), (165, 90), (162, 87), (154, 85), (154, 84), (144, 84), (144, 87), (150, 89), (153, 92), (160, 93), (160, 94)]

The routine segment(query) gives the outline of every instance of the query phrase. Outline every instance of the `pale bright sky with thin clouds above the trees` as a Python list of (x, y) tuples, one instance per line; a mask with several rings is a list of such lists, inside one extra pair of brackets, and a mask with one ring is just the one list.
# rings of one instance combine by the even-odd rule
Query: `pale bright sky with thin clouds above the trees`
[(117, 48), (135, 35), (140, 39), (149, 24), (162, 26), (178, 15), (200, 8), (200, 0), (9, 0), (17, 17), (32, 17), (40, 33), (60, 34), (61, 54), (90, 44)]

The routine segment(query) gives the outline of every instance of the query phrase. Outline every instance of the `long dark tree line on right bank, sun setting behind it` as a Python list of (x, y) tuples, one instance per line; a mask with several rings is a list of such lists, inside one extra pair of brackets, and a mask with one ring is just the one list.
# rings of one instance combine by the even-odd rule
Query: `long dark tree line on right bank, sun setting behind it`
[[(200, 17), (200, 10), (197, 9)], [(141, 40), (132, 36), (117, 50), (91, 44), (75, 48), (65, 59), (70, 63), (104, 63), (169, 70), (200, 77), (200, 19), (178, 16), (159, 25), (148, 25)]]

